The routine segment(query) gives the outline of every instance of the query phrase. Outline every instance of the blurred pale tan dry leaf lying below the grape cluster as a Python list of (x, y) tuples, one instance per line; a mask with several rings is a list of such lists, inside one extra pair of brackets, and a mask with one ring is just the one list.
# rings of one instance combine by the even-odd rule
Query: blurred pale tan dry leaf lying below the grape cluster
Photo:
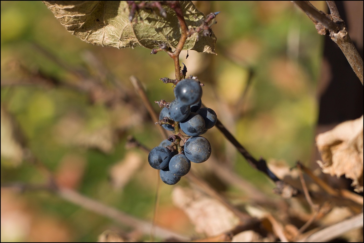
[(176, 186), (172, 199), (174, 204), (187, 214), (196, 231), (207, 236), (232, 230), (239, 223), (232, 211), (197, 190)]

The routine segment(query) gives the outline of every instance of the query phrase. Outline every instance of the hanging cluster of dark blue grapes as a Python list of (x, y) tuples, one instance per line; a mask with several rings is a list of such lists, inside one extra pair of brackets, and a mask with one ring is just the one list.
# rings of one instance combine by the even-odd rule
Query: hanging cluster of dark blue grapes
[[(211, 155), (209, 141), (200, 136), (217, 122), (216, 113), (210, 108), (201, 108), (202, 88), (194, 79), (179, 81), (174, 89), (175, 99), (163, 107), (159, 122), (163, 128), (174, 131), (148, 155), (148, 162), (160, 170), (162, 181), (174, 185), (186, 175), (191, 162), (202, 163)], [(181, 134), (180, 130), (187, 136)], [(184, 146), (180, 145), (183, 141)]]

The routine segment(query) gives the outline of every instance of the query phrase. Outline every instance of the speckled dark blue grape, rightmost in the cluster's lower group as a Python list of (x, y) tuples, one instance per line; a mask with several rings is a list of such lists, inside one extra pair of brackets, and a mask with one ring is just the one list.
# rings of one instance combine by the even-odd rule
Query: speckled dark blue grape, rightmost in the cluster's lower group
[(211, 145), (206, 138), (201, 136), (189, 138), (185, 143), (185, 155), (192, 162), (205, 162), (210, 158)]

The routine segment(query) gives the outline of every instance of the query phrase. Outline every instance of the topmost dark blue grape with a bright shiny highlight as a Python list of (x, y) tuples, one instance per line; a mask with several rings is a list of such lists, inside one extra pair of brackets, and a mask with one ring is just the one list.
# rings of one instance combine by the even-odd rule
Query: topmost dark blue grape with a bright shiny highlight
[(174, 89), (174, 96), (185, 105), (194, 104), (201, 99), (201, 85), (194, 79), (182, 79)]

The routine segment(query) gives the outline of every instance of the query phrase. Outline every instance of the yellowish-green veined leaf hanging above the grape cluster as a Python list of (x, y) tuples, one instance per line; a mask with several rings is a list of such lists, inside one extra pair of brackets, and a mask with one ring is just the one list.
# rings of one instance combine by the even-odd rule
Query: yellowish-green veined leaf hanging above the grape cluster
[[(153, 49), (158, 43), (176, 47), (181, 31), (173, 9), (163, 6), (167, 17), (156, 10), (138, 10), (133, 21), (129, 21), (126, 1), (43, 1), (60, 23), (73, 35), (94, 45), (108, 47), (145, 47)], [(180, 1), (186, 24), (198, 27), (205, 16), (191, 1)], [(190, 36), (184, 50), (215, 54), (216, 37)]]

